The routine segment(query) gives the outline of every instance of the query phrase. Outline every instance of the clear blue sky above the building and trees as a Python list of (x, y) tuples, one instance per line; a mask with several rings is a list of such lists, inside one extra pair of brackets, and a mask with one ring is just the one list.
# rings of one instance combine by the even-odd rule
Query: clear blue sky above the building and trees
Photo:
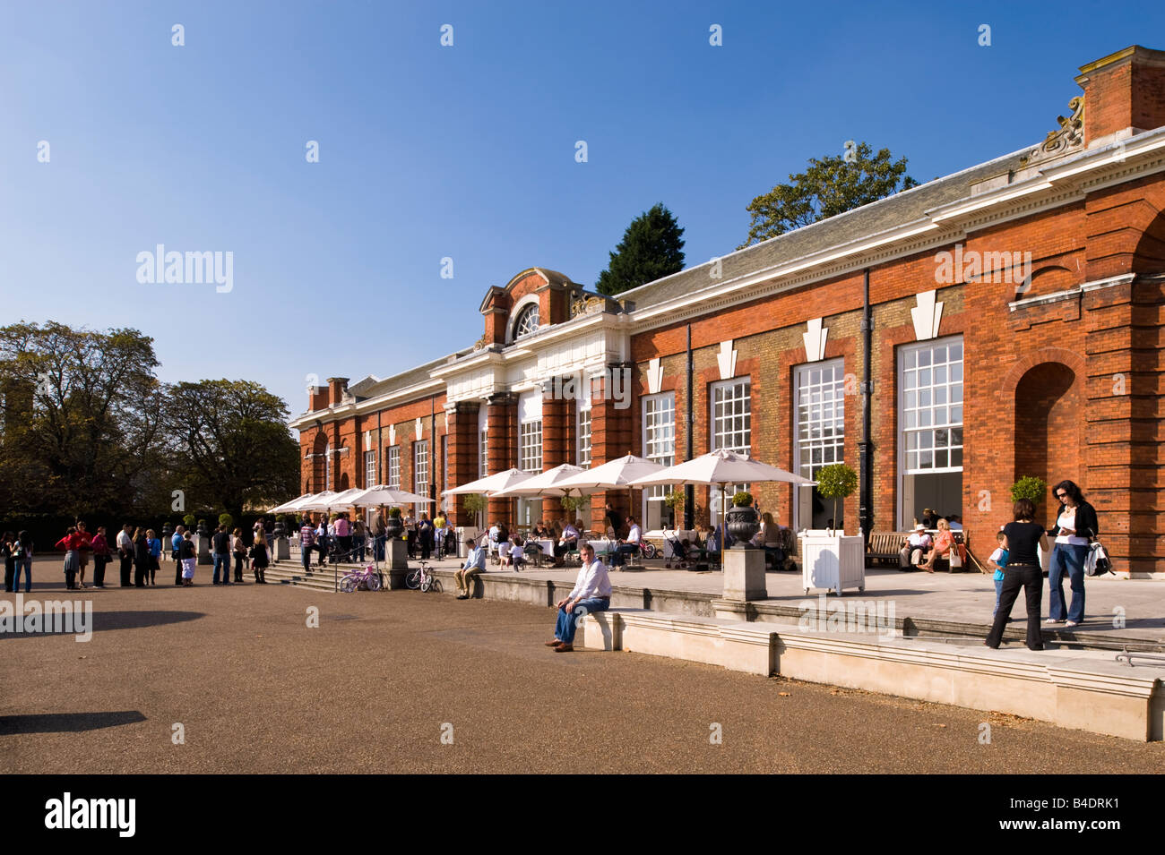
[[(923, 181), (1036, 143), (1135, 43), (1165, 48), (1165, 5), (8, 0), (0, 322), (133, 326), (162, 379), (297, 413), (308, 375), (471, 344), (524, 268), (593, 285), (657, 201), (698, 264), (846, 140)], [(139, 283), (158, 243), (233, 252), (232, 291)]]

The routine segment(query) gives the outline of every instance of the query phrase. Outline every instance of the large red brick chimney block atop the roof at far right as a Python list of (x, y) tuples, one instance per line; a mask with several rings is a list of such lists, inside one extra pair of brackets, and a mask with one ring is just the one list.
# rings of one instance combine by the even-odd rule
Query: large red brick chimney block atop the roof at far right
[(1108, 145), (1165, 126), (1165, 51), (1132, 45), (1080, 66), (1085, 144)]

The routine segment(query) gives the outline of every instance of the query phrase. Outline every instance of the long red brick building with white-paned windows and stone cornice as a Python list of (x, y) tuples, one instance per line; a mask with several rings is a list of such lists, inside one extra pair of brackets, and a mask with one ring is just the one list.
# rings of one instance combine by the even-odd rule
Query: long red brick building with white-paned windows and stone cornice
[[(1012, 482), (1071, 478), (1121, 565), (1165, 570), (1165, 51), (1118, 51), (1075, 81), (1038, 145), (616, 299), (522, 271), (485, 295), (472, 348), (311, 391), (292, 421), (304, 491), (437, 498), (510, 465), (680, 462), (691, 440), (693, 455), (747, 449), (809, 476), (859, 469), (849, 530), (933, 507), (989, 542)], [(798, 529), (833, 515), (810, 490), (753, 492)], [(651, 498), (633, 497), (648, 528), (668, 515)], [(605, 499), (627, 508), (626, 492), (600, 494), (594, 513)], [(698, 513), (715, 501), (699, 491)], [(1042, 518), (1054, 507), (1048, 491)]]

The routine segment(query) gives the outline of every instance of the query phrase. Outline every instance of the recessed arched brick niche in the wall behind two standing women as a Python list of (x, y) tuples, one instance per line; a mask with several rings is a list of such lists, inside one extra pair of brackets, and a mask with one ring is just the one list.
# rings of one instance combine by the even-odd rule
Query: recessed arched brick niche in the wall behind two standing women
[[(1083, 408), (1075, 372), (1059, 362), (1028, 370), (1015, 393), (1015, 478), (1043, 478), (1048, 484), (1038, 513), (1055, 510), (1051, 487), (1062, 478), (1082, 482), (1080, 456)], [(1039, 520), (1037, 520), (1039, 521)]]

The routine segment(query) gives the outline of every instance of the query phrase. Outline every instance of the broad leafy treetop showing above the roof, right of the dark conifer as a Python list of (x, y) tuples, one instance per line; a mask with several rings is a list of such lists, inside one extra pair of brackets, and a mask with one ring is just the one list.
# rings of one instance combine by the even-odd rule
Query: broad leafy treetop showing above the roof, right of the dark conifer
[(918, 186), (906, 174), (905, 157), (894, 161), (889, 149), (871, 156), (864, 142), (852, 151), (850, 163), (845, 155), (810, 158), (804, 172), (789, 176), (789, 184), (778, 184), (749, 202), (748, 238), (736, 249)]

